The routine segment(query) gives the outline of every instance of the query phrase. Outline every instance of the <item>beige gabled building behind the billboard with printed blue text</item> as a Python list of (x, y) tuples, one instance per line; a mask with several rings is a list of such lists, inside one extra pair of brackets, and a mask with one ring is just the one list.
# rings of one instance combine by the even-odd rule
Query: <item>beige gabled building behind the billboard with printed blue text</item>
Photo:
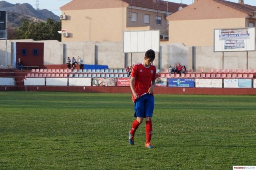
[(167, 17), (169, 42), (186, 46), (213, 46), (214, 29), (255, 27), (256, 7), (225, 0), (194, 0)]

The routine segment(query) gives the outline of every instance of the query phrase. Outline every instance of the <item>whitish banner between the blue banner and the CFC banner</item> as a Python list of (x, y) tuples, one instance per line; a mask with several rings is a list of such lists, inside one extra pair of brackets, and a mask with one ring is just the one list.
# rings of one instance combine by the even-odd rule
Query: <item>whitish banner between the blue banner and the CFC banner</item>
[(222, 79), (196, 79), (196, 87), (222, 88)]

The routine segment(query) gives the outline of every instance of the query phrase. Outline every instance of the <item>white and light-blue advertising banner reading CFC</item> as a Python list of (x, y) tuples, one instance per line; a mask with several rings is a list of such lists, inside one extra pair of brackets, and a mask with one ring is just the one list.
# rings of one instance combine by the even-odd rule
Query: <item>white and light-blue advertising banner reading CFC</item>
[(224, 79), (224, 88), (252, 88), (252, 79)]

